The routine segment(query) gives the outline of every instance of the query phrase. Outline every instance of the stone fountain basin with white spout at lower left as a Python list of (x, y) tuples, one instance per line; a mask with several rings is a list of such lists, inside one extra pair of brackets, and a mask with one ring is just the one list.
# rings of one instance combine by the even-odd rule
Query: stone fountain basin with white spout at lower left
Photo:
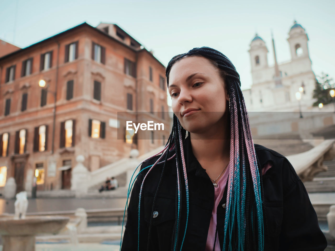
[(68, 217), (25, 216), (27, 193), (16, 194), (15, 216), (0, 218), (2, 251), (35, 251), (35, 236), (57, 234), (68, 223)]

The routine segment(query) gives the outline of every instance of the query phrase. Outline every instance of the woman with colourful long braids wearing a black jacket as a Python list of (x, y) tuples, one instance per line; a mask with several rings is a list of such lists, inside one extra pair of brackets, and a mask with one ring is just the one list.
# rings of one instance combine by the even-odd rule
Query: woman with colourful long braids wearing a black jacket
[(121, 250), (324, 250), (290, 162), (253, 144), (230, 60), (194, 48), (172, 58), (166, 81), (173, 129), (165, 148), (142, 163)]

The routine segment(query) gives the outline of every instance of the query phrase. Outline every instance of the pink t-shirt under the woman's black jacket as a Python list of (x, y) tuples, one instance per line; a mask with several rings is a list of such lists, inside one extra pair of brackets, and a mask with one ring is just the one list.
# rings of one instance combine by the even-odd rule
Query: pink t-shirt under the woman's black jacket
[[(262, 170), (262, 174), (264, 175), (267, 170), (270, 169), (272, 165), (270, 163), (267, 163), (265, 167)], [(215, 230), (216, 230), (216, 208), (221, 201), (221, 198), (223, 196), (224, 188), (226, 186), (226, 182), (228, 179), (229, 174), (229, 167), (228, 165), (227, 170), (224, 172), (220, 180), (217, 182), (218, 187), (214, 187), (214, 207), (212, 211), (212, 217), (210, 219), (209, 223), (209, 229), (208, 229), (208, 235), (207, 235), (207, 242), (206, 242), (206, 248), (205, 251), (212, 251), (214, 246), (214, 239), (215, 239)], [(220, 250), (220, 243), (219, 243), (219, 234), (217, 233), (216, 236), (216, 244), (215, 244), (215, 251), (221, 251)]]

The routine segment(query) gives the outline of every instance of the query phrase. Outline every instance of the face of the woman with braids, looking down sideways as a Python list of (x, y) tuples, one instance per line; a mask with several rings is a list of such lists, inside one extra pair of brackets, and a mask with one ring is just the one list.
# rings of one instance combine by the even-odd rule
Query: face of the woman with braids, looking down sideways
[[(170, 70), (169, 93), (172, 110), (184, 129), (198, 134), (222, 129), (229, 95), (219, 69), (208, 59), (188, 56), (177, 61)], [(187, 113), (188, 109), (194, 111)]]

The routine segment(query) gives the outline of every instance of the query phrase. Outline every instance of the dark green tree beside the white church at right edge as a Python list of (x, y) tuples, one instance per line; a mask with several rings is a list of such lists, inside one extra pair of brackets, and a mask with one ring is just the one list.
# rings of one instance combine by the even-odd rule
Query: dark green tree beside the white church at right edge
[(313, 106), (318, 106), (319, 103), (323, 103), (323, 105), (335, 102), (329, 91), (331, 89), (335, 89), (335, 84), (332, 78), (329, 78), (328, 74), (321, 73), (321, 76), (317, 76), (315, 79), (315, 89), (313, 91), (313, 98), (316, 98), (317, 101), (313, 103)]

